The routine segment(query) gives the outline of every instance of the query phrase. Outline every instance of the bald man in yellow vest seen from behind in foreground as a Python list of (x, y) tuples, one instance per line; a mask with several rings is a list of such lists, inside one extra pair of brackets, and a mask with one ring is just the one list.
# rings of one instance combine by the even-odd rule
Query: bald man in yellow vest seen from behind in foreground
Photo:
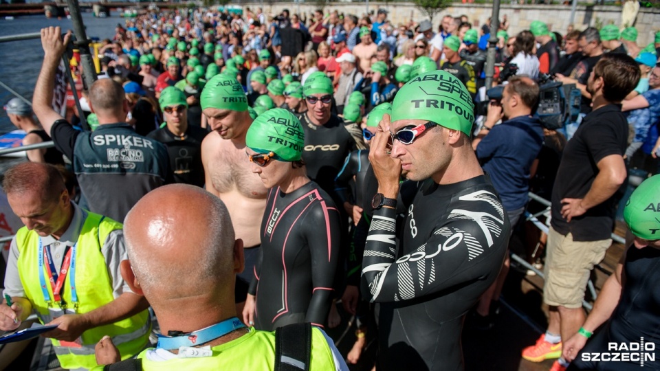
[[(235, 239), (217, 196), (183, 184), (159, 188), (126, 216), (125, 236), (129, 260), (122, 262), (122, 275), (151, 303), (167, 335), (137, 357), (142, 370), (274, 370), (274, 333), (236, 318), (234, 280), (243, 271), (243, 241)], [(346, 370), (322, 330), (311, 329), (311, 343), (309, 370)], [(195, 349), (206, 346), (210, 350)], [(119, 361), (109, 339), (97, 352), (100, 363)]]

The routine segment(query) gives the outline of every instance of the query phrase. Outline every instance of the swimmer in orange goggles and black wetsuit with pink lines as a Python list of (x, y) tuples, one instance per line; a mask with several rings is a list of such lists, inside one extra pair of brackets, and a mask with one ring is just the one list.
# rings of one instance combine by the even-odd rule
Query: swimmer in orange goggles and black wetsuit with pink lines
[(259, 115), (248, 129), (252, 172), (269, 188), (261, 223), (261, 256), (243, 308), (258, 330), (311, 322), (322, 327), (332, 301), (339, 257), (339, 212), (305, 175), (305, 134), (285, 109)]

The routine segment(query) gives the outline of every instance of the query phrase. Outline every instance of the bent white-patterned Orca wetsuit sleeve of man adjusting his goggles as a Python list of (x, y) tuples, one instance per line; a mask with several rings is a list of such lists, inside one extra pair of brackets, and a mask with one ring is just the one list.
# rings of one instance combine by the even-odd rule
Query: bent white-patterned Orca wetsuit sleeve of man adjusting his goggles
[(469, 213), (441, 218), (426, 243), (397, 259), (396, 211), (375, 210), (362, 260), (362, 296), (371, 302), (412, 300), (484, 279), (489, 253), (508, 240), (508, 229), (490, 214)]

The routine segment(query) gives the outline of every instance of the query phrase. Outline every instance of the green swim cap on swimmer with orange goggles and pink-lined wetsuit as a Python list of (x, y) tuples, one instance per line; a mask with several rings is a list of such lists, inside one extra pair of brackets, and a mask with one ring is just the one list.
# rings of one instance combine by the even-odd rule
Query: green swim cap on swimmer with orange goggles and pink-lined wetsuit
[(305, 146), (305, 132), (293, 113), (271, 109), (252, 122), (245, 144), (258, 153), (273, 152), (280, 161), (298, 161)]

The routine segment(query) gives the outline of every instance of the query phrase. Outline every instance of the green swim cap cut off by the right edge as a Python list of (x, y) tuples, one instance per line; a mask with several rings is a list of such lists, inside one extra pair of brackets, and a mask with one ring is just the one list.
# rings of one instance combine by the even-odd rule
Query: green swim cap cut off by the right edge
[(630, 194), (624, 219), (630, 232), (644, 240), (660, 240), (660, 175), (641, 182)]

